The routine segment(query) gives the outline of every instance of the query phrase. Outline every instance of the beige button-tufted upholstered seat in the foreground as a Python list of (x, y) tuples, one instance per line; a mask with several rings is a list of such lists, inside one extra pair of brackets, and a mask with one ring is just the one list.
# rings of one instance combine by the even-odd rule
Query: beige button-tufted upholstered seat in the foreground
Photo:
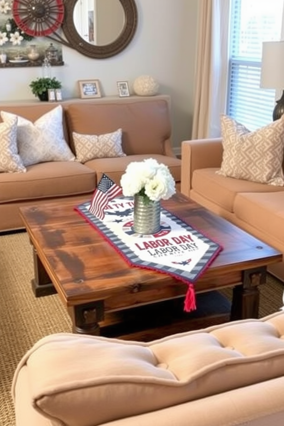
[(52, 334), (12, 394), (17, 426), (283, 426), (284, 312), (149, 343)]

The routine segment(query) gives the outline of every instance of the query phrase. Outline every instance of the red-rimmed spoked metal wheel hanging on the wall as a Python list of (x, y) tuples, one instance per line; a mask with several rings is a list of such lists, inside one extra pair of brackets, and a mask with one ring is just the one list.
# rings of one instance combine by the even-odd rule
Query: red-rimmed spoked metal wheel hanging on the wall
[(33, 37), (54, 33), (64, 18), (63, 0), (14, 0), (13, 18), (17, 26)]

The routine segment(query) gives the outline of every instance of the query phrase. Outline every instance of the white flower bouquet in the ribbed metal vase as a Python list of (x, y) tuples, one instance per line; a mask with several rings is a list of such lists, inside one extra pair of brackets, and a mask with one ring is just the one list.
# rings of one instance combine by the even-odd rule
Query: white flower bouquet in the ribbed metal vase
[(129, 163), (120, 185), (124, 196), (140, 195), (148, 201), (167, 200), (175, 193), (175, 180), (169, 168), (153, 158)]

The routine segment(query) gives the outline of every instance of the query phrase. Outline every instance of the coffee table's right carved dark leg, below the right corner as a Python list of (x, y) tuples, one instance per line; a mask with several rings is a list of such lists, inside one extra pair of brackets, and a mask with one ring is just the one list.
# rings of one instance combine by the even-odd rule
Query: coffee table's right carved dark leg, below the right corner
[(266, 267), (243, 271), (242, 281), (233, 288), (231, 320), (258, 318), (258, 286), (266, 282)]

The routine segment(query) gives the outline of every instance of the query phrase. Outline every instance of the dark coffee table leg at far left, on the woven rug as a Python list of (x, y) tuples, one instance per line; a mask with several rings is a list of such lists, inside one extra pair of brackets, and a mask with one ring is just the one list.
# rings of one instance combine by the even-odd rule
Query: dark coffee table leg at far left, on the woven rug
[(34, 257), (34, 279), (32, 279), (32, 291), (34, 296), (49, 296), (55, 294), (56, 289), (49, 278), (40, 258), (37, 255), (37, 250), (33, 246)]

